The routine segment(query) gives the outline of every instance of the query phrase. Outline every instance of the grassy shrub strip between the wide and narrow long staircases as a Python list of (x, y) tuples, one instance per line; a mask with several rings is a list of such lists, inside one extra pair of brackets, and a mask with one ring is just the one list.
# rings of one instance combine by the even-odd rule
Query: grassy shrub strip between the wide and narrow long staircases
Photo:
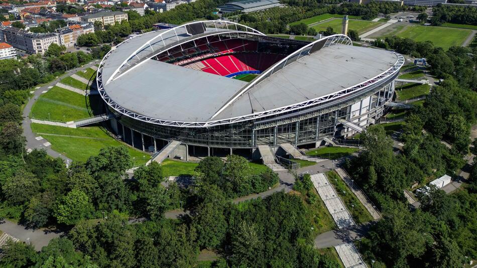
[(373, 220), (368, 210), (366, 210), (360, 200), (357, 199), (335, 171), (326, 172), (326, 176), (356, 223), (365, 223)]

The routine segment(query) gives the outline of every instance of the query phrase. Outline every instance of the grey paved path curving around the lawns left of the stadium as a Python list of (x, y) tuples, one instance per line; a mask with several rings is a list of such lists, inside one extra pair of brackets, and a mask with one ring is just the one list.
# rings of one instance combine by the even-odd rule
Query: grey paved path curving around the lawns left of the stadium
[(44, 140), (44, 139), (37, 140), (36, 139), (37, 136), (35, 135), (35, 133), (33, 133), (32, 128), (30, 126), (30, 123), (31, 123), (31, 120), (30, 120), (30, 117), (29, 117), (30, 116), (30, 111), (33, 107), (33, 104), (40, 97), (40, 95), (42, 94), (43, 91), (48, 91), (48, 89), (50, 89), (51, 87), (56, 85), (56, 83), (58, 83), (61, 79), (65, 78), (67, 76), (70, 76), (70, 75), (76, 73), (79, 70), (84, 70), (88, 67), (94, 66), (94, 64), (96, 64), (96, 63), (97, 63), (97, 61), (93, 61), (93, 62), (88, 63), (88, 64), (86, 64), (82, 67), (78, 67), (78, 68), (75, 68), (73, 70), (70, 70), (67, 73), (59, 76), (55, 80), (51, 81), (50, 83), (35, 89), (35, 92), (33, 92), (33, 96), (30, 98), (30, 100), (25, 105), (25, 108), (23, 109), (22, 126), (23, 126), (23, 135), (27, 139), (27, 151), (33, 150), (33, 149), (45, 149), (47, 154), (51, 157), (54, 157), (54, 158), (61, 157), (66, 162), (69, 162), (69, 163), (72, 162), (71, 159), (69, 159), (69, 158), (65, 157), (64, 155), (59, 154), (58, 152), (52, 150), (49, 146), (45, 146), (45, 144), (47, 142), (46, 140)]

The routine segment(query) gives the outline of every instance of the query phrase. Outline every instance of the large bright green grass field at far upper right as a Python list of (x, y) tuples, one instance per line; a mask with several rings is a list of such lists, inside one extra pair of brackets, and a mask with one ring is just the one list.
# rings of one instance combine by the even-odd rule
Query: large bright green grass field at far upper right
[(447, 50), (451, 46), (462, 45), (470, 33), (471, 31), (466, 29), (412, 25), (399, 32), (397, 36), (417, 42), (432, 41), (436, 47)]

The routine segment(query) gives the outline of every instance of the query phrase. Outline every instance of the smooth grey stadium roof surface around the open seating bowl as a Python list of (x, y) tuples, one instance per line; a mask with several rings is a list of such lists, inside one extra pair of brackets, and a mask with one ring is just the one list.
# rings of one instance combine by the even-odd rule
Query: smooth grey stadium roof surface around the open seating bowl
[(391, 51), (336, 44), (274, 70), (250, 88), (248, 82), (152, 59), (113, 75), (132, 58), (132, 51), (157, 33), (117, 47), (103, 63), (102, 86), (107, 98), (135, 115), (177, 122), (224, 120), (344, 92), (390, 70), (395, 73), (402, 58)]

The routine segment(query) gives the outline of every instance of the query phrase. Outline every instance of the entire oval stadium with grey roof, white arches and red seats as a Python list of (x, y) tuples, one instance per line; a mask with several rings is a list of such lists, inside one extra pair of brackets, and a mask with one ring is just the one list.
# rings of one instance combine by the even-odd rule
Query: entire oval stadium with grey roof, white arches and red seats
[(202, 21), (124, 41), (96, 81), (112, 130), (138, 149), (173, 142), (186, 159), (252, 156), (260, 146), (319, 146), (374, 123), (403, 63), (345, 35), (310, 43)]

